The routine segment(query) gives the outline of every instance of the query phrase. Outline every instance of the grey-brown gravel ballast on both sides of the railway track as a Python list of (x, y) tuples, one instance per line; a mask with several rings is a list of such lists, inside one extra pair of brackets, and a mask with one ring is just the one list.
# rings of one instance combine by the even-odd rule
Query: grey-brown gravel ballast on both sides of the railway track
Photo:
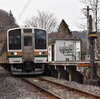
[[(52, 79), (69, 86), (100, 95), (100, 87), (78, 84), (76, 82), (69, 82), (63, 79), (55, 79), (51, 77), (48, 79)], [(43, 94), (44, 93), (42, 91), (32, 87), (18, 77), (12, 77), (9, 73), (6, 73), (0, 68), (0, 99), (50, 99), (48, 96), (45, 96), (44, 98)], [(81, 97), (80, 99), (85, 98)]]

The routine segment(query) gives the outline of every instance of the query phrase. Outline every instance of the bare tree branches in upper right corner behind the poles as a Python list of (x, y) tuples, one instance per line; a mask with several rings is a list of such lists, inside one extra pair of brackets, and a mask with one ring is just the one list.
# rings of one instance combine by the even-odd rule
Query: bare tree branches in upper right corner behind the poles
[[(85, 7), (82, 10), (85, 18), (87, 18), (87, 11), (85, 8), (89, 6), (91, 9), (89, 12), (93, 15), (96, 31), (100, 30), (100, 0), (81, 0), (81, 2), (85, 4)], [(81, 27), (81, 25), (82, 24), (80, 24), (79, 27)], [(82, 26), (86, 27), (84, 24)]]

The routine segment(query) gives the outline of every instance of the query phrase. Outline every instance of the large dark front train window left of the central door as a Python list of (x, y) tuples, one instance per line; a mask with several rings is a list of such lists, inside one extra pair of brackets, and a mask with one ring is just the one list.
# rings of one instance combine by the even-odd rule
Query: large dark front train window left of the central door
[(20, 50), (21, 49), (21, 30), (9, 31), (9, 49)]

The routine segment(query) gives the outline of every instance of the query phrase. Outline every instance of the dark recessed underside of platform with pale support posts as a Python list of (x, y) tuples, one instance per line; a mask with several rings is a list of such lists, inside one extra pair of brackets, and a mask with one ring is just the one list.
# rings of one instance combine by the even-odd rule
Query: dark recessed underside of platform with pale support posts
[(49, 66), (51, 76), (68, 81), (83, 83), (83, 75), (76, 71), (76, 66)]

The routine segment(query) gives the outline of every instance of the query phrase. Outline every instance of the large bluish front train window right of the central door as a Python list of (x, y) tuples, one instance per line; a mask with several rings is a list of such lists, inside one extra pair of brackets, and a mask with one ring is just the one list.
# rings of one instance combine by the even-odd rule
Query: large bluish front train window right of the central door
[(35, 29), (35, 49), (46, 49), (46, 31)]

